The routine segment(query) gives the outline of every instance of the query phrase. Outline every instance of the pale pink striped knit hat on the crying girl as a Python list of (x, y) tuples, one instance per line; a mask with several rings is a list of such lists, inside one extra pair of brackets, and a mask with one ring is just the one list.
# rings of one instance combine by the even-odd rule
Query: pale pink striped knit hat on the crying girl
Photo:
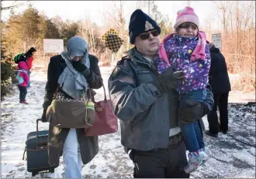
[(199, 28), (199, 17), (195, 14), (194, 9), (189, 6), (177, 12), (175, 29), (184, 22), (192, 22)]

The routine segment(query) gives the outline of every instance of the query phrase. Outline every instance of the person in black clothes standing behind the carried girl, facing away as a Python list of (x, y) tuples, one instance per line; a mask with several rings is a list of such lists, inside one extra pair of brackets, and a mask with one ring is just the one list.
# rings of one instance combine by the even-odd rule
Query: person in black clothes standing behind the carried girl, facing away
[[(211, 67), (209, 69), (209, 84), (212, 86), (214, 105), (213, 110), (207, 115), (209, 130), (205, 133), (212, 137), (218, 137), (221, 131), (226, 134), (228, 130), (228, 96), (231, 90), (230, 78), (227, 73), (227, 63), (225, 57), (216, 48), (214, 43), (210, 43)], [(220, 123), (217, 115), (217, 108), (220, 111)]]

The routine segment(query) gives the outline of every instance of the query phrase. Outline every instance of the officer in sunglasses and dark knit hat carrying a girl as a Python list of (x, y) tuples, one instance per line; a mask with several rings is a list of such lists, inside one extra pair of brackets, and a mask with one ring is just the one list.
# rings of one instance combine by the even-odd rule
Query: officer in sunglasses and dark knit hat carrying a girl
[[(160, 46), (157, 22), (137, 9), (130, 17), (130, 43), (135, 47), (117, 62), (109, 77), (109, 95), (120, 120), (121, 143), (134, 163), (133, 177), (189, 177), (185, 142), (178, 127), (177, 81), (181, 71), (167, 69), (158, 75), (154, 57)], [(184, 110), (185, 117), (199, 119), (213, 106), (206, 100)]]

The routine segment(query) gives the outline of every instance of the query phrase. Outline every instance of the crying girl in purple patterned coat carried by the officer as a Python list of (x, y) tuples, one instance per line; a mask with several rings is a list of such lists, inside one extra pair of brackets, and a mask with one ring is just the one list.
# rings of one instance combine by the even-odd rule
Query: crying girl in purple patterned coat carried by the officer
[[(177, 84), (179, 110), (195, 106), (206, 99), (210, 67), (209, 46), (206, 44), (205, 33), (199, 31), (199, 18), (193, 8), (186, 7), (178, 12), (175, 33), (168, 35), (161, 43), (154, 64), (158, 73), (163, 73), (170, 66), (175, 71), (182, 70), (185, 73), (185, 79)], [(191, 173), (208, 157), (202, 140), (202, 129), (199, 121), (182, 117), (179, 117), (179, 125), (189, 150), (189, 162), (185, 172)]]

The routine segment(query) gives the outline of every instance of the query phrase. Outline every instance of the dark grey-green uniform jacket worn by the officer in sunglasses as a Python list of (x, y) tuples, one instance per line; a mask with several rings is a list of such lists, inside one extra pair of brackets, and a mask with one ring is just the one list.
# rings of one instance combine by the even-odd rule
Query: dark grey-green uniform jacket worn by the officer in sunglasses
[[(120, 120), (121, 143), (126, 152), (167, 148), (170, 129), (178, 127), (178, 93), (172, 90), (161, 95), (150, 83), (158, 76), (154, 64), (136, 48), (128, 54), (117, 62), (109, 77), (109, 96)], [(208, 95), (211, 109), (212, 93)]]

